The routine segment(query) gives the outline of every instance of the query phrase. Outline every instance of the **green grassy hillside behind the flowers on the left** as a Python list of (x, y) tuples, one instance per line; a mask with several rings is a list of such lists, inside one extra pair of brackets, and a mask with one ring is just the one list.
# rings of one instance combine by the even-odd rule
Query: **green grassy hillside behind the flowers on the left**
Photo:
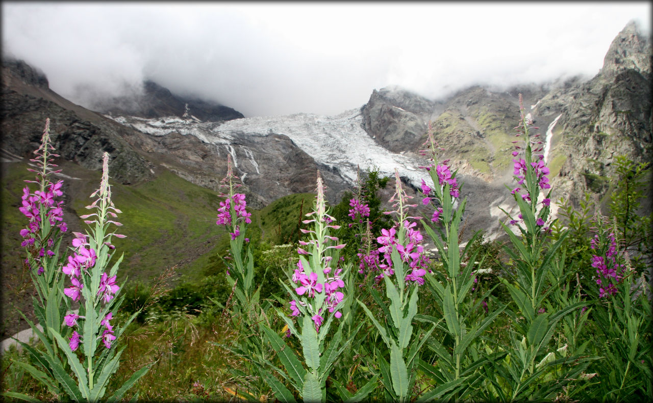
[[(22, 267), (25, 251), (20, 247), (19, 235), (27, 220), (18, 211), (24, 180), (33, 179), (27, 168), (23, 162), (3, 164), (1, 264), (2, 280), (6, 284), (3, 297), (7, 303), (3, 304), (1, 331), (5, 336), (17, 327), (25, 327), (13, 306), (22, 308), (31, 301), (29, 275)], [(85, 230), (78, 216), (88, 213), (84, 206), (92, 202), (88, 196), (99, 186), (101, 173), (71, 162), (61, 163), (60, 168), (67, 177), (74, 178), (64, 178), (65, 220), (70, 230), (62, 245), (71, 245), (72, 231)], [(155, 278), (174, 267), (174, 274), (168, 279), (170, 286), (186, 284), (193, 288), (206, 283), (218, 288), (224, 286), (215, 283), (223, 283), (220, 279), (225, 267), (219, 256), (227, 254), (229, 236), (222, 226), (215, 224), (219, 201), (223, 200), (216, 192), (185, 181), (168, 170), (162, 170), (155, 180), (146, 183), (121, 185), (112, 180), (110, 183), (112, 200), (122, 211), (118, 221), (123, 226), (116, 231), (127, 235), (125, 239), (113, 239), (116, 250), (125, 254), (118, 272), (119, 281), (128, 278), (129, 288), (133, 284), (150, 286)], [(251, 242), (275, 245), (297, 239), (301, 212), (311, 210), (313, 199), (313, 194), (293, 194), (261, 211), (251, 211), (252, 223), (247, 229)]]

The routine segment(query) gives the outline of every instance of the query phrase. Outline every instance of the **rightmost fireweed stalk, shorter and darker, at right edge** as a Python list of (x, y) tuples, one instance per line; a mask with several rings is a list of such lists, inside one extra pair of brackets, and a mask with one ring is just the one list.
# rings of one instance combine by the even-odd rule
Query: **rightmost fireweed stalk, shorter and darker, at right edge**
[[(598, 374), (597, 401), (628, 402), (651, 396), (650, 354), (651, 305), (647, 295), (650, 285), (645, 276), (637, 275), (626, 252), (624, 241), (618, 238), (615, 220), (610, 225), (605, 217), (594, 220), (592, 260), (596, 269), (596, 285), (588, 290), (597, 297), (592, 318), (596, 328), (592, 343), (601, 346), (605, 357), (590, 365)], [(638, 278), (639, 277), (639, 278)]]

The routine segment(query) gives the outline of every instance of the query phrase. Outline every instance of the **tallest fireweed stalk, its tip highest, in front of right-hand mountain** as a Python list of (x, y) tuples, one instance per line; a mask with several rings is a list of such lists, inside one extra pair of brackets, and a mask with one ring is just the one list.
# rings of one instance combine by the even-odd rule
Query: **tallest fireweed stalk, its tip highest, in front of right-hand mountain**
[[(550, 306), (550, 312), (545, 308), (549, 293), (564, 281), (564, 278), (555, 279), (551, 274), (555, 269), (554, 264), (564, 260), (559, 253), (560, 246), (569, 232), (564, 231), (550, 245), (546, 236), (552, 224), (549, 169), (543, 162), (543, 155), (539, 154), (542, 151), (539, 135), (531, 133), (537, 127), (532, 127), (533, 122), (525, 113), (521, 94), (519, 108), (520, 121), (515, 129), (516, 136), (522, 140), (513, 142), (513, 174), (517, 186), (511, 190), (519, 213), (514, 217), (503, 211), (510, 222), (509, 225), (501, 223), (513, 246), (506, 246), (505, 251), (515, 262), (515, 271), (512, 281), (500, 279), (517, 311), (506, 310), (514, 325), (509, 335), (511, 352), (500, 365), (494, 367), (492, 374), (486, 372), (490, 396), (510, 401), (553, 396), (569, 381), (577, 379), (592, 359), (568, 357), (567, 346), (550, 346), (558, 321), (569, 312), (590, 303), (580, 301), (566, 306)], [(521, 237), (511, 230), (511, 226), (517, 226)], [(571, 350), (575, 351), (575, 348)], [(553, 382), (555, 377), (547, 375), (562, 370), (565, 371), (562, 380)]]

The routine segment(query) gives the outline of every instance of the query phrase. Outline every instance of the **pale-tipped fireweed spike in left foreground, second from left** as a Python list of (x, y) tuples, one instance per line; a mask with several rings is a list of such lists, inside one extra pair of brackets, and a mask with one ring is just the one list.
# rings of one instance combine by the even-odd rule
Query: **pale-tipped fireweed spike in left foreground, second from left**
[[(80, 303), (79, 314), (71, 313), (64, 317), (64, 324), (72, 331), (68, 340), (69, 348), (73, 351), (80, 348), (84, 356), (82, 363), (74, 362), (76, 356), (68, 357), (69, 361), (72, 360), (71, 368), (85, 368), (82, 372), (74, 371), (78, 390), (69, 392), (74, 400), (97, 400), (104, 395), (110, 375), (118, 369), (122, 353), (116, 351), (114, 344), (138, 313), (133, 314), (123, 326), (110, 323), (113, 312), (118, 310), (123, 301), (123, 297), (116, 298), (121, 289), (116, 284), (116, 278), (122, 256), (110, 265), (116, 249), (112, 245), (112, 237), (124, 238), (125, 235), (110, 230), (110, 226), (122, 224), (115, 220), (121, 211), (111, 200), (108, 162), (109, 155), (104, 153), (100, 187), (90, 196), (95, 200), (86, 206), (86, 209), (94, 212), (80, 217), (86, 219), (84, 222), (89, 229), (85, 234), (74, 234), (72, 253), (67, 264), (61, 268), (61, 272), (69, 276), (71, 281), (71, 286), (63, 292), (72, 301)], [(62, 342), (59, 340), (59, 344)], [(127, 381), (127, 388), (148, 369), (148, 366), (141, 368), (135, 377)], [(119, 392), (119, 395), (122, 393), (124, 391)]]

